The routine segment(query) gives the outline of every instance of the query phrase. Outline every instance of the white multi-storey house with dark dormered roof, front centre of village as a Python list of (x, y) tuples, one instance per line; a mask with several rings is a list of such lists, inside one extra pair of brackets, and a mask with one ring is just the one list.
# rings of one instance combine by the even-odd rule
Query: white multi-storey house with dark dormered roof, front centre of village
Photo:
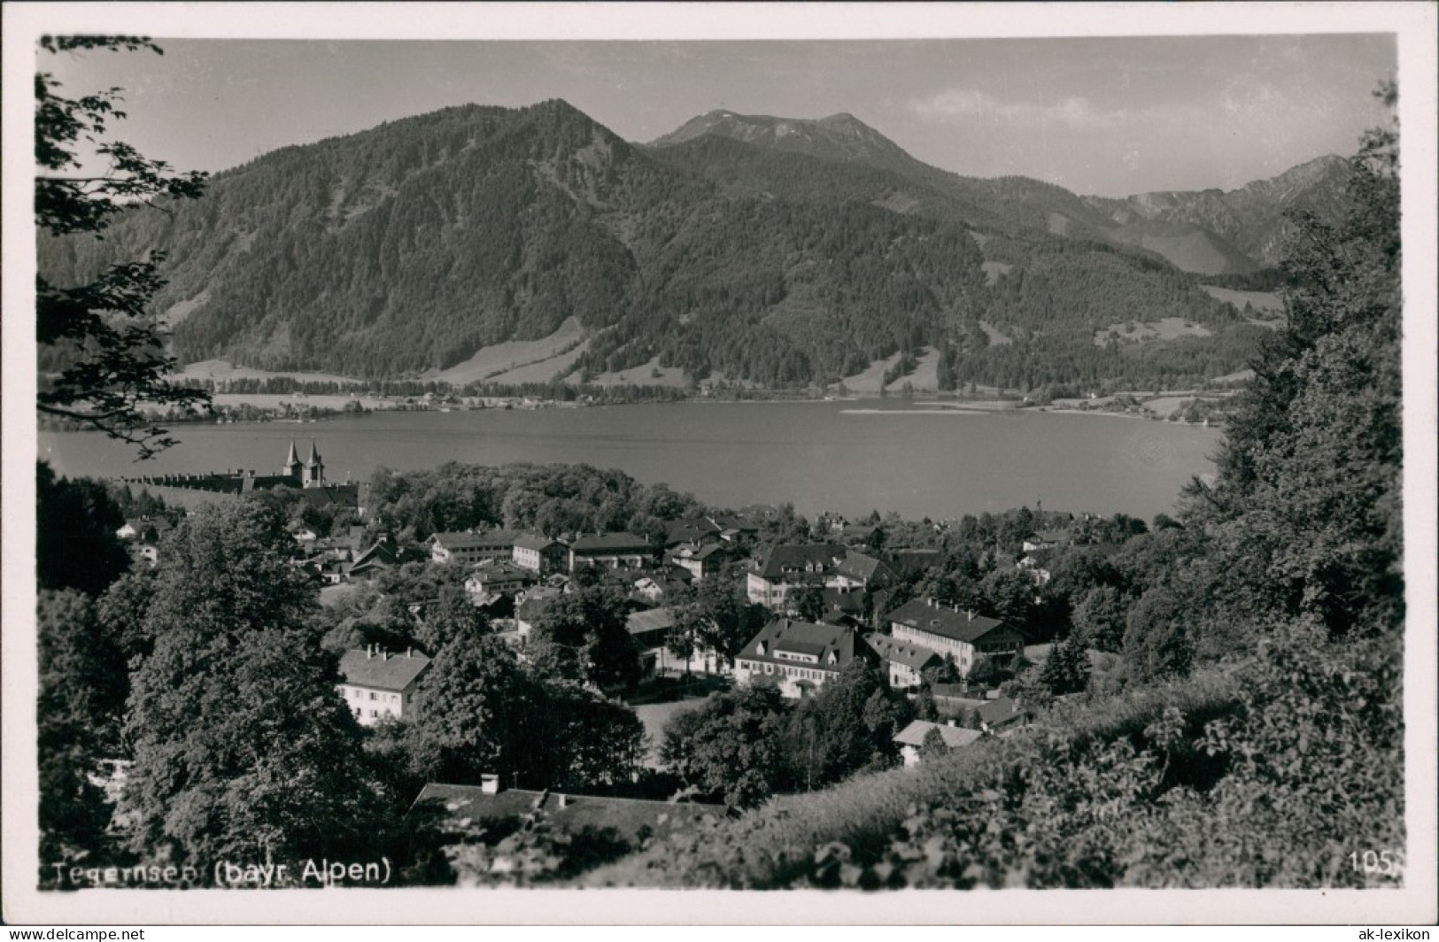
[(777, 618), (734, 659), (737, 683), (774, 683), (789, 699), (814, 693), (863, 656), (853, 628)]

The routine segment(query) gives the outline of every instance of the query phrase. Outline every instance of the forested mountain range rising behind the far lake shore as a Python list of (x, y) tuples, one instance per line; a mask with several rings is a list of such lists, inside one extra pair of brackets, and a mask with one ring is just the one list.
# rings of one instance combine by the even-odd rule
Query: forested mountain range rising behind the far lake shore
[(468, 105), (265, 154), (104, 240), (45, 237), (40, 266), (164, 252), (176, 354), (276, 371), (439, 375), (573, 335), (540, 370), (783, 387), (927, 354), (941, 388), (1166, 384), (1245, 365), (1265, 328), (1200, 282), (1272, 267), (1284, 213), (1337, 213), (1347, 168), (1112, 200), (961, 177), (848, 114), (632, 144), (563, 101)]

